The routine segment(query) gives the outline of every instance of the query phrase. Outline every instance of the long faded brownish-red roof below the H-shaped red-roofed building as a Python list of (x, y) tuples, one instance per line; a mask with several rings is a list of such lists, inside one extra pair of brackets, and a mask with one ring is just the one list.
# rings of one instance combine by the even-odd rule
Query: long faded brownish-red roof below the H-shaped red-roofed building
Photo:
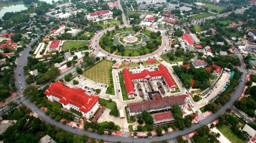
[(175, 104), (182, 105), (182, 104), (185, 104), (186, 97), (187, 95), (181, 95), (181, 96), (163, 98), (160, 100), (130, 103), (129, 109), (130, 109), (130, 113), (136, 113), (136, 112), (150, 111), (154, 109), (162, 109), (165, 107), (171, 107)]

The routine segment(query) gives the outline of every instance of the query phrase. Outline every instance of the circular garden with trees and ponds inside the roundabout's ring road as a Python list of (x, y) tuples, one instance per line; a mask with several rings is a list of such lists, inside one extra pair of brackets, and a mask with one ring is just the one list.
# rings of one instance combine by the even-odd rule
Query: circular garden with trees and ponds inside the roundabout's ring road
[(140, 26), (117, 28), (102, 35), (99, 45), (116, 55), (139, 56), (158, 49), (161, 45), (161, 33)]

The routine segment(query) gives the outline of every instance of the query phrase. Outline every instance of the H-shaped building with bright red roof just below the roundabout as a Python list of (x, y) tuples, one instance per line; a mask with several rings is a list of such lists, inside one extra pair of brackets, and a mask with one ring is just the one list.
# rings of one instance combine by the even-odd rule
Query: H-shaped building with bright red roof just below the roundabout
[(127, 95), (133, 96), (135, 93), (133, 82), (135, 81), (143, 81), (148, 79), (157, 79), (157, 78), (163, 78), (167, 84), (167, 89), (171, 91), (176, 90), (175, 82), (173, 81), (172, 77), (169, 74), (169, 71), (162, 65), (158, 65), (159, 70), (158, 71), (148, 71), (143, 70), (141, 73), (134, 73), (131, 74), (128, 69), (122, 70), (123, 75), (123, 82), (125, 84), (125, 89), (127, 92)]

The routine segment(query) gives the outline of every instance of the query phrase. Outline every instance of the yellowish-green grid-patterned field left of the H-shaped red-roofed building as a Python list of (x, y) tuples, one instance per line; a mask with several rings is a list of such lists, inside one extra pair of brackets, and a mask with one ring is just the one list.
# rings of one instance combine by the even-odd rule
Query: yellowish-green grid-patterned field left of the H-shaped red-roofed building
[(108, 60), (101, 60), (93, 67), (84, 71), (83, 76), (93, 81), (97, 81), (104, 84), (110, 84), (112, 79), (112, 66), (113, 62)]

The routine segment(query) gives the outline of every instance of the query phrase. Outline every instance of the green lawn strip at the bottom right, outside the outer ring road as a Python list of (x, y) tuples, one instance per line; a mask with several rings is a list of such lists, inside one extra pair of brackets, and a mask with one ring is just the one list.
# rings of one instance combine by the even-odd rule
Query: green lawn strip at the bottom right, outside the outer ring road
[(218, 130), (220, 130), (220, 132), (222, 134), (224, 134), (231, 142), (233, 143), (245, 143), (246, 141), (241, 139), (239, 136), (237, 136), (237, 134), (234, 134), (233, 131), (230, 129), (229, 126), (227, 125), (221, 125), (221, 126), (217, 126)]

